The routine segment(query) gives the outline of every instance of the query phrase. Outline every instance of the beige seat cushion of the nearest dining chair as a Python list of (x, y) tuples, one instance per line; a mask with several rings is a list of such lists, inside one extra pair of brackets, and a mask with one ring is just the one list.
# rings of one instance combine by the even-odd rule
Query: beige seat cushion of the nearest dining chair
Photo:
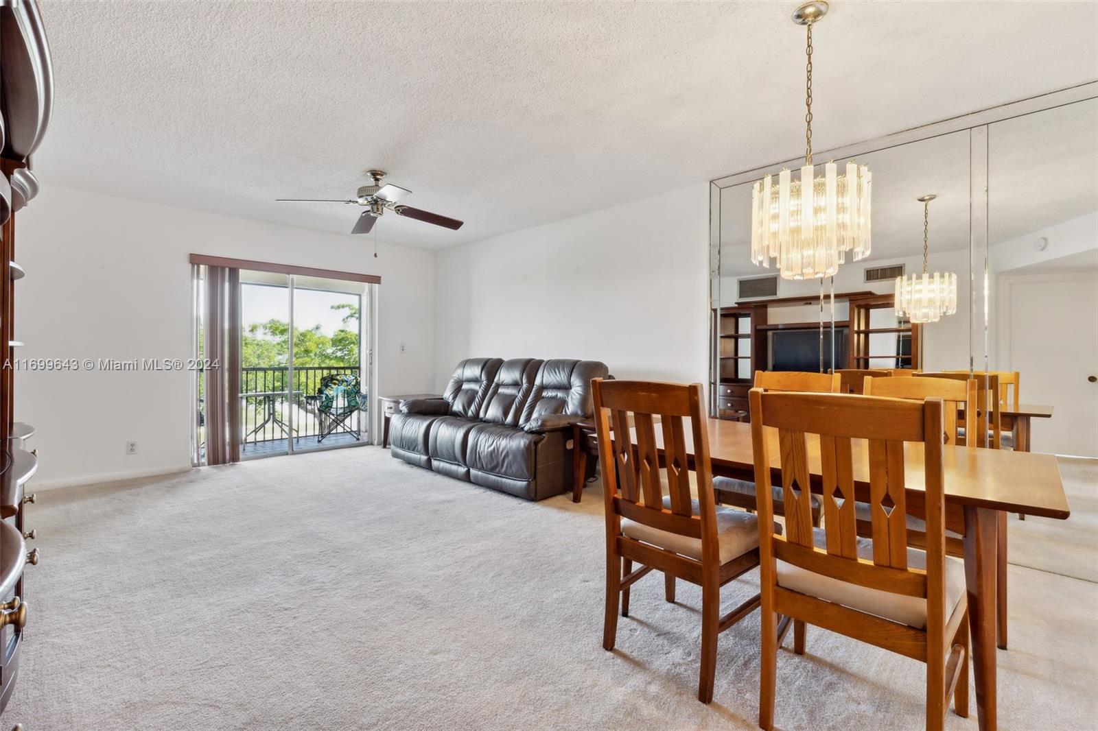
[[(817, 548), (827, 548), (827, 533), (824, 532), (822, 528), (813, 530), (813, 541)], [(872, 561), (873, 541), (859, 538), (858, 555)], [(927, 554), (918, 549), (909, 548), (907, 550), (907, 565), (912, 569), (926, 569)], [(922, 629), (927, 626), (927, 600), (917, 596), (893, 594), (892, 592), (851, 584), (800, 566), (794, 566), (785, 561), (777, 562), (777, 584), (794, 592), (892, 619), (908, 627)], [(950, 615), (953, 614), (953, 608), (957, 606), (957, 601), (961, 600), (964, 593), (964, 563), (946, 556), (945, 619), (949, 619)]]

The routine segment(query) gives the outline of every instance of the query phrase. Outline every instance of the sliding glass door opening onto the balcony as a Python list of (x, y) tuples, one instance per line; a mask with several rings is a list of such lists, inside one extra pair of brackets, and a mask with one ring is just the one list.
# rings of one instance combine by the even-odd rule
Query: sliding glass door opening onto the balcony
[[(210, 418), (228, 434), (213, 443), (237, 447), (236, 459), (368, 443), (373, 284), (231, 270), (238, 282), (217, 290), (231, 304), (211, 310), (206, 269), (195, 268), (195, 353), (201, 360), (206, 330), (216, 329), (239, 362), (195, 372), (193, 462), (234, 461), (232, 447), (208, 459)], [(221, 386), (212, 398), (211, 383)]]

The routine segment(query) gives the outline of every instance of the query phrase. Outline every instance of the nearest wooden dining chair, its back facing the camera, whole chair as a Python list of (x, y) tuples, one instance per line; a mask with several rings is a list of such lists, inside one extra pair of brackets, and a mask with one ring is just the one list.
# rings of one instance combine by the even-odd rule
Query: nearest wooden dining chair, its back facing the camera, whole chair
[[(787, 506), (783, 536), (771, 529), (771, 492), (759, 491), (759, 726), (770, 729), (774, 722), (780, 616), (793, 618), (797, 654), (805, 652), (811, 623), (925, 662), (927, 729), (944, 727), (951, 697), (957, 716), (967, 717), (968, 601), (964, 563), (945, 555), (942, 402), (761, 389), (752, 389), (749, 398), (755, 482), (770, 479), (764, 429), (776, 428)], [(819, 436), (824, 528), (813, 528), (805, 499), (809, 434)], [(905, 442), (923, 443), (926, 552), (907, 546)], [(869, 463), (867, 493), (855, 492), (855, 460)], [(873, 507), (871, 539), (858, 537), (855, 494)], [(829, 706), (819, 709), (827, 712)]]

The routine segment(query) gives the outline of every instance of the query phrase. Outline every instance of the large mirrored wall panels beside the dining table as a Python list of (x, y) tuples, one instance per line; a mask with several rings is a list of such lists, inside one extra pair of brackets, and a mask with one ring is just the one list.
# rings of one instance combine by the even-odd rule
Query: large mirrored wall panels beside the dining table
[[(746, 409), (755, 370), (1018, 371), (1020, 401), (1061, 409), (1049, 424), (1084, 421), (1074, 438), (1042, 425), (1032, 448), (1096, 456), (1096, 131), (1087, 85), (817, 154), (873, 173), (872, 254), (822, 281), (751, 261), (752, 184), (799, 160), (714, 180), (713, 414)], [(912, 325), (896, 314), (895, 282), (925, 260), (956, 274), (956, 311)]]

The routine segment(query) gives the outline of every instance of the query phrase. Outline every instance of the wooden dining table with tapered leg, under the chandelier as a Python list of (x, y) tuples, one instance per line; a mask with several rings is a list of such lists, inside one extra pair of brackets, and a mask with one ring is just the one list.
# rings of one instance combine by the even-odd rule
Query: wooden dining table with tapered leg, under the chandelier
[[(657, 430), (657, 441), (661, 441)], [(771, 484), (781, 484), (781, 450), (773, 439)], [(754, 481), (751, 425), (708, 419), (713, 474)], [(693, 439), (686, 429), (686, 449), (693, 459)], [(818, 437), (808, 436), (808, 468), (813, 492), (822, 492)], [(869, 457), (864, 440), (853, 440), (856, 499), (869, 499)], [(861, 443), (859, 443), (861, 442)], [(662, 445), (658, 443), (662, 447)], [(905, 485), (910, 513), (922, 507), (925, 484), (922, 445), (905, 445)], [(999, 519), (1002, 513), (1064, 520), (1071, 515), (1060, 466), (1052, 454), (997, 449), (943, 448), (945, 527), (963, 535), (965, 583), (972, 628), (972, 659), (976, 710), (981, 729), (997, 728), (996, 720), (996, 583)], [(720, 492), (717, 498), (720, 499)]]

